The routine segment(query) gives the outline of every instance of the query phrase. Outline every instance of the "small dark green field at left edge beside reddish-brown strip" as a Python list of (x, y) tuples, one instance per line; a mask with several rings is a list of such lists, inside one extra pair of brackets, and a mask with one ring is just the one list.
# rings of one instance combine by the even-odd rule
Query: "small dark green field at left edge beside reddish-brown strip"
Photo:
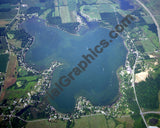
[(8, 54), (1, 54), (0, 55), (0, 72), (6, 72), (7, 62), (9, 59)]

